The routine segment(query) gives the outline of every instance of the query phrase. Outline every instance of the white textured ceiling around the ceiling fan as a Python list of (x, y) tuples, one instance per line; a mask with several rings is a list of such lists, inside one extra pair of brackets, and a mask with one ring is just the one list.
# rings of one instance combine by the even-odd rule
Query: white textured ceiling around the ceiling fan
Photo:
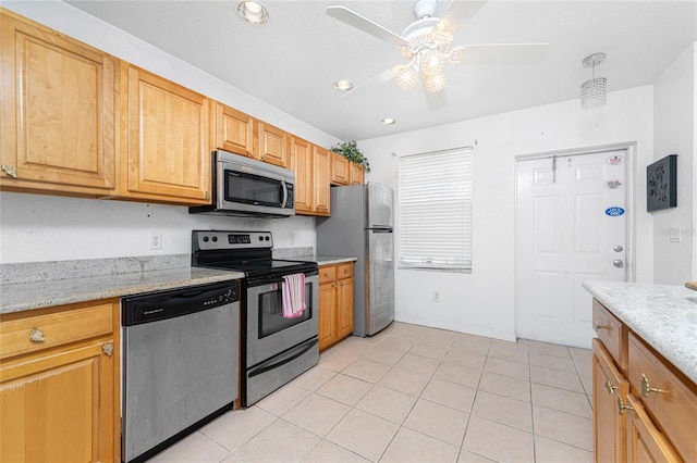
[[(458, 0), (456, 0), (458, 1)], [(697, 41), (696, 1), (489, 1), (453, 40), (549, 42), (534, 65), (447, 64), (448, 88), (370, 82), (345, 98), (332, 84), (359, 85), (402, 62), (400, 51), (326, 14), (345, 5), (401, 34), (413, 1), (262, 1), (271, 20), (242, 22), (236, 1), (70, 1), (74, 7), (192, 63), (340, 139), (368, 139), (577, 98), (590, 78), (582, 60), (608, 58), (596, 74), (609, 91), (652, 84)], [(439, 2), (442, 14), (450, 1)], [(392, 126), (380, 124), (394, 117)]]

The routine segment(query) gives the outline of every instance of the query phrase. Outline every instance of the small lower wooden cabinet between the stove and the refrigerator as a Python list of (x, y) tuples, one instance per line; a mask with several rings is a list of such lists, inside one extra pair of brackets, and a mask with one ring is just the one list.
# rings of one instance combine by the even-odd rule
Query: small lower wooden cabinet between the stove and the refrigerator
[(353, 262), (319, 267), (319, 350), (353, 333)]

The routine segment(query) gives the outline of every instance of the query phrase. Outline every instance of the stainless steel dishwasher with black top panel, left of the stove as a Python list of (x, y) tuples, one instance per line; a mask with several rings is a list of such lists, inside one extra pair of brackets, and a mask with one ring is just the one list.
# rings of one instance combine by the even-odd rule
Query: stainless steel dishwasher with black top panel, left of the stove
[(142, 462), (237, 399), (236, 280), (122, 299), (121, 459)]

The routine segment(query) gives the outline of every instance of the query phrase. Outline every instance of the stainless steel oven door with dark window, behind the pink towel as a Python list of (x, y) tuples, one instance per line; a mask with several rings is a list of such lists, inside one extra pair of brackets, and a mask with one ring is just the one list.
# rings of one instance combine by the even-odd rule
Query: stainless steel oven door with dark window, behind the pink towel
[(283, 276), (247, 287), (246, 367), (252, 368), (318, 334), (319, 278), (305, 276), (306, 310), (296, 318), (284, 318), (281, 305)]

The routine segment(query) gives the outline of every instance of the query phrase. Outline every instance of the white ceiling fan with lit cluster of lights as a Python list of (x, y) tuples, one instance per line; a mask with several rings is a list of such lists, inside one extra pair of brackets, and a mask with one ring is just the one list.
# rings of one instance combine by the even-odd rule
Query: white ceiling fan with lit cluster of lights
[[(404, 90), (416, 86), (419, 77), (426, 91), (435, 93), (447, 85), (445, 63), (528, 64), (541, 61), (549, 43), (482, 43), (451, 46), (454, 35), (477, 13), (485, 1), (453, 0), (438, 17), (438, 0), (418, 0), (413, 11), (416, 21), (398, 35), (367, 17), (345, 8), (328, 7), (327, 14), (398, 47), (404, 63), (363, 83), (396, 78)], [(358, 87), (354, 87), (354, 90)], [(344, 93), (344, 96), (347, 93)]]

